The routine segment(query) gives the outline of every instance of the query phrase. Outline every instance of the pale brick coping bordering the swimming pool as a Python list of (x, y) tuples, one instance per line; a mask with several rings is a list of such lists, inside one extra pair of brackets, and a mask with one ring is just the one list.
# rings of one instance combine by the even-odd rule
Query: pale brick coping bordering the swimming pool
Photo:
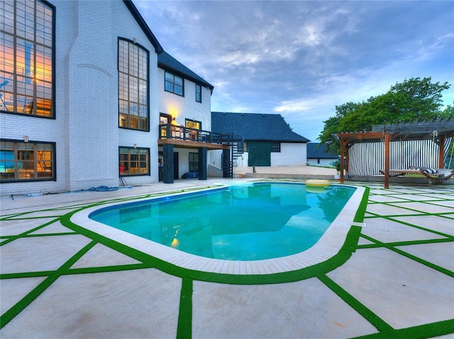
[[(282, 181), (267, 180), (267, 183), (273, 182), (282, 183)], [(236, 183), (230, 183), (221, 187), (228, 187), (235, 184)], [(304, 185), (304, 183), (301, 183), (301, 185)], [(89, 214), (92, 212), (115, 205), (124, 205), (124, 201), (109, 202), (104, 205), (88, 207), (82, 211), (74, 213), (70, 218), (70, 221), (74, 224), (82, 226), (84, 229), (93, 231), (96, 234), (117, 241), (118, 243), (131, 247), (137, 251), (152, 255), (157, 259), (164, 260), (165, 262), (176, 265), (179, 268), (226, 275), (270, 275), (301, 270), (302, 268), (323, 263), (324, 261), (333, 258), (334, 255), (339, 253), (345, 243), (350, 227), (363, 226), (361, 223), (354, 222), (353, 219), (358, 211), (358, 207), (360, 206), (360, 202), (365, 193), (365, 188), (355, 185), (339, 186), (355, 188), (355, 192), (345, 204), (343, 209), (341, 209), (341, 212), (338, 214), (336, 219), (334, 219), (323, 236), (321, 236), (319, 241), (317, 241), (314, 246), (306, 251), (280, 258), (265, 260), (239, 261), (205, 258), (199, 255), (179, 251), (176, 248), (167, 247), (160, 243), (156, 243), (155, 241), (143, 239), (140, 236), (135, 236), (134, 234), (130, 234), (126, 231), (121, 231), (120, 229), (116, 229), (112, 226), (89, 219)], [(213, 188), (204, 188), (198, 190), (197, 192), (203, 192), (206, 190), (213, 190)], [(169, 196), (184, 194), (187, 194), (187, 192), (170, 193)], [(163, 195), (161, 195), (160, 198), (162, 198), (162, 196)], [(145, 200), (153, 200), (153, 198), (145, 197), (129, 202), (136, 203)]]

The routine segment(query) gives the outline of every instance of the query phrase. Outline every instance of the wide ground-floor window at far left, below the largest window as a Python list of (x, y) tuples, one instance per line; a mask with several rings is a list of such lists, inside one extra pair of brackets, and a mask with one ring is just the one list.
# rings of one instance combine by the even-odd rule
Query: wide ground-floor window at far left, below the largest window
[(0, 141), (0, 182), (55, 180), (55, 144)]

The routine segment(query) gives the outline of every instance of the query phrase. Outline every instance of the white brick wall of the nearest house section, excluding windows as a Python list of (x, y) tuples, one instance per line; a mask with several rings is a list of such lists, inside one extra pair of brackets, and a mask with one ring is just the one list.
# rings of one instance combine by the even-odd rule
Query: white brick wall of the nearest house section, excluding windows
[[(1, 113), (1, 138), (55, 142), (56, 180), (2, 183), (1, 194), (118, 186), (118, 146), (150, 149), (157, 182), (157, 54), (123, 1), (50, 1), (55, 6), (55, 120)], [(150, 53), (150, 132), (118, 128), (118, 37)]]

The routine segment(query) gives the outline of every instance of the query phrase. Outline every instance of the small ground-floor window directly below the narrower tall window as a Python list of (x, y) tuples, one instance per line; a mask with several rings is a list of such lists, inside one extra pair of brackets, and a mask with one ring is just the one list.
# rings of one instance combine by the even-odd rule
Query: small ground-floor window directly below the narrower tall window
[(120, 147), (120, 176), (149, 176), (150, 149)]

